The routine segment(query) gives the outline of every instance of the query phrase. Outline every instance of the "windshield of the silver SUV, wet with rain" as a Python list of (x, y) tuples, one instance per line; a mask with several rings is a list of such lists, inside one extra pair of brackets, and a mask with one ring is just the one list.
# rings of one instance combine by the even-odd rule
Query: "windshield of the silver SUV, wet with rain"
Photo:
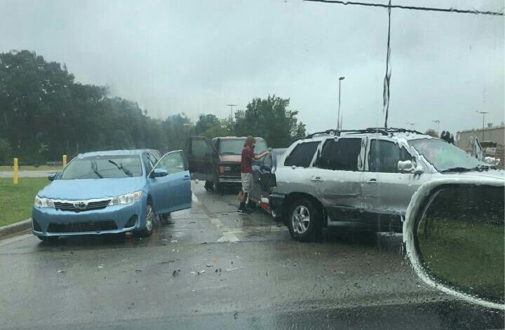
[(477, 158), (470, 156), (462, 149), (447, 143), (441, 139), (415, 139), (409, 141), (420, 155), (438, 170), (445, 172), (450, 170), (471, 170), (488, 167)]

